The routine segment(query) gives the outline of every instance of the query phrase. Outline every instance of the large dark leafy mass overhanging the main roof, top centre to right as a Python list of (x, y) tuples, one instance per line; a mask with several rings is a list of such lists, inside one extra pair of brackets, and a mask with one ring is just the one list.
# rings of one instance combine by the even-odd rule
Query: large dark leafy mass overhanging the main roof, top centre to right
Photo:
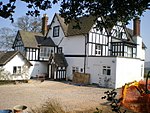
[(102, 18), (97, 21), (97, 28), (110, 28), (117, 22), (128, 21), (141, 16), (149, 8), (148, 0), (64, 0), (60, 13), (68, 23), (81, 16), (93, 15)]

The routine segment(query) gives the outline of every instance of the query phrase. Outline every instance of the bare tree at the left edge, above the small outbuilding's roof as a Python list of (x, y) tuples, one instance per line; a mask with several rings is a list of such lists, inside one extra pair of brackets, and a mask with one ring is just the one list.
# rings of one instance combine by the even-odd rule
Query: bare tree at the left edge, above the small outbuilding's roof
[(0, 29), (0, 49), (1, 50), (9, 50), (12, 47), (14, 38), (15, 38), (15, 30), (4, 27)]

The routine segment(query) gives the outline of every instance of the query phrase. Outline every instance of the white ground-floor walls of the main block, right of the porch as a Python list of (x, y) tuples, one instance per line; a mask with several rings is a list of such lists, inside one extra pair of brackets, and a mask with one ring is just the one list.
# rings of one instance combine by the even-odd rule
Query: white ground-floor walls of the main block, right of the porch
[[(78, 67), (79, 72), (84, 69), (84, 58), (67, 57), (69, 64), (67, 77), (72, 79), (72, 67)], [(111, 75), (103, 74), (103, 66), (109, 66)], [(125, 83), (139, 81), (144, 76), (144, 61), (123, 57), (88, 57), (86, 59), (86, 73), (90, 73), (90, 83), (101, 87), (120, 88)]]

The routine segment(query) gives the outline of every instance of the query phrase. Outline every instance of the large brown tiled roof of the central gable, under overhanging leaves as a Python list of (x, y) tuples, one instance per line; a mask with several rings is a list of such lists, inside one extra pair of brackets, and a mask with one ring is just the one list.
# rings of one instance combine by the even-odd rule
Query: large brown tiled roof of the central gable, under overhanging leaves
[(62, 18), (59, 14), (56, 14), (56, 17), (58, 18), (58, 21), (60, 22), (60, 25), (64, 31), (65, 36), (74, 36), (74, 35), (82, 35), (87, 34), (92, 26), (95, 23), (95, 17), (94, 16), (88, 16), (88, 17), (81, 17), (79, 18), (79, 25), (80, 29), (75, 29), (74, 26), (76, 26), (76, 22), (72, 20), (69, 24), (64, 23), (64, 18)]

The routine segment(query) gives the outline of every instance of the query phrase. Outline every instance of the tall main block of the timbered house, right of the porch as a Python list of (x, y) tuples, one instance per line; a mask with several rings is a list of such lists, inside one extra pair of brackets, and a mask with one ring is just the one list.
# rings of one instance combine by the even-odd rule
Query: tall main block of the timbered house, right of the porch
[(100, 31), (94, 27), (94, 17), (79, 20), (80, 29), (74, 29), (74, 21), (66, 25), (55, 14), (47, 34), (62, 48), (69, 79), (74, 72), (90, 73), (91, 83), (112, 88), (143, 79), (145, 45), (140, 35), (121, 23)]

